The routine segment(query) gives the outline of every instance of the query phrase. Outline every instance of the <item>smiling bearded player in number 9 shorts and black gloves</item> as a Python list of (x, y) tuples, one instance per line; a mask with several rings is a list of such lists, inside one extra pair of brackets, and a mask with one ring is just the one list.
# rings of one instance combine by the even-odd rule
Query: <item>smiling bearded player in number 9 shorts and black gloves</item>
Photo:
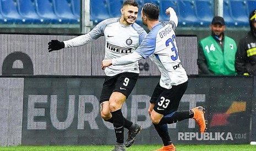
[[(146, 31), (135, 23), (138, 11), (139, 7), (136, 1), (126, 0), (121, 8), (121, 18), (109, 18), (101, 21), (89, 33), (64, 42), (51, 40), (48, 43), (48, 51), (79, 47), (100, 36), (104, 36), (105, 59), (115, 59), (116, 57), (131, 54), (139, 47), (146, 35)], [(124, 101), (127, 100), (138, 80), (138, 61), (127, 65), (107, 67), (105, 73), (107, 77), (102, 86), (100, 97), (101, 117), (114, 125), (117, 144), (113, 150), (124, 151), (126, 150), (123, 144), (124, 127), (129, 130), (125, 143), (126, 147), (132, 146), (135, 136), (141, 130), (141, 125), (132, 123), (132, 121), (124, 118), (121, 111)]]

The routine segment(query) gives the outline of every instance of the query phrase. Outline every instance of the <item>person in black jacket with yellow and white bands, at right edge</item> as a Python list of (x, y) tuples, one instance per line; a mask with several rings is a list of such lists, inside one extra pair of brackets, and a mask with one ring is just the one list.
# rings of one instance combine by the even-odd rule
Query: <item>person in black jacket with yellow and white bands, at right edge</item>
[(256, 75), (256, 9), (249, 14), (250, 31), (238, 43), (235, 67), (239, 75)]

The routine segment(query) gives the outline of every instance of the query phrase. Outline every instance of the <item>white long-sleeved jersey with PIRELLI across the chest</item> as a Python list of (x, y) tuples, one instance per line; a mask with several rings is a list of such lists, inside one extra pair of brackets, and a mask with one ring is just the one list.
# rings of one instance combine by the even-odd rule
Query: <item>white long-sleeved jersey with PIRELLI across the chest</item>
[[(105, 36), (105, 59), (115, 59), (133, 53), (146, 35), (144, 28), (134, 23), (123, 25), (119, 18), (101, 21), (89, 33), (64, 41), (65, 48), (88, 44), (100, 36)], [(92, 50), (93, 51), (93, 50)], [(128, 65), (109, 66), (105, 68), (108, 76), (123, 72), (139, 73), (138, 61)]]

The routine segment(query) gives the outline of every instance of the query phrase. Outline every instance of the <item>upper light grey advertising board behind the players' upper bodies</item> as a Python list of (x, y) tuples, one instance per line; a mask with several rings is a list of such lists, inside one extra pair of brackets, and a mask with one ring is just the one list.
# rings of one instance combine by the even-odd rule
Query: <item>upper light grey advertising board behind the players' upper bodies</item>
[[(105, 75), (100, 68), (105, 39), (100, 37), (77, 48), (48, 53), (51, 39), (75, 36), (0, 34), (0, 75)], [(197, 37), (177, 36), (179, 57), (187, 74), (198, 74)], [(186, 60), (186, 61), (185, 61)], [(150, 59), (139, 61), (140, 75), (160, 75)]]

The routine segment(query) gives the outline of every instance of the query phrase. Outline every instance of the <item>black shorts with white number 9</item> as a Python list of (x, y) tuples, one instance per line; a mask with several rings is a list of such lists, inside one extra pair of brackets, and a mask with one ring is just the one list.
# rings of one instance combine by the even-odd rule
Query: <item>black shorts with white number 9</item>
[(102, 86), (100, 103), (110, 100), (112, 92), (118, 91), (128, 98), (139, 78), (139, 73), (124, 72), (106, 77)]

